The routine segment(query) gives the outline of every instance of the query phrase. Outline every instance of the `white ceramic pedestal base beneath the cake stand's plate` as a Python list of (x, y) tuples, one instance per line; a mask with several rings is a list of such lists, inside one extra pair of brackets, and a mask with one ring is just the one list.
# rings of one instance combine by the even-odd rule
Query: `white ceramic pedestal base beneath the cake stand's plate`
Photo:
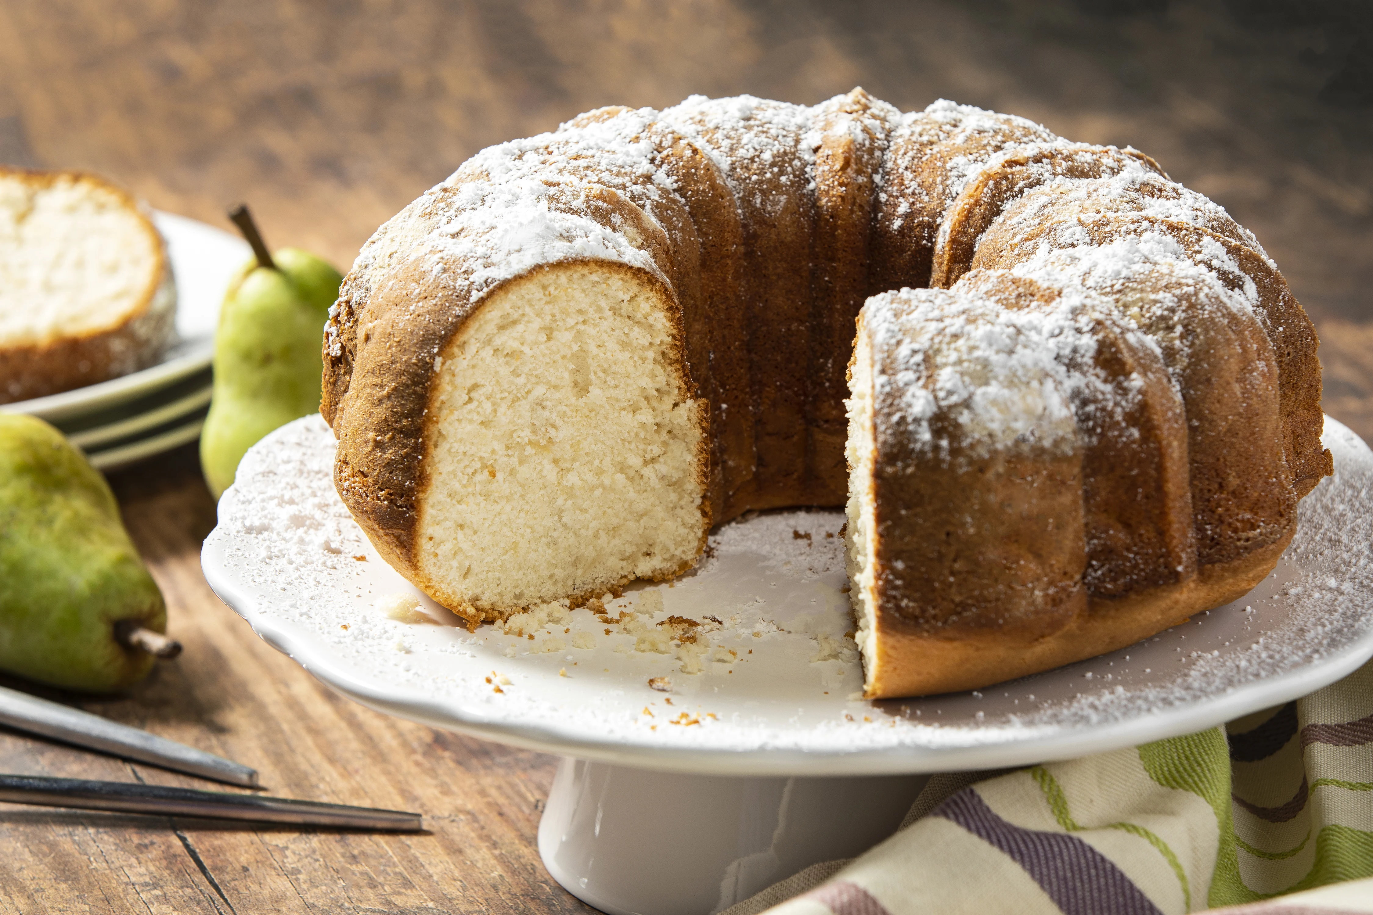
[(724, 911), (897, 831), (928, 775), (729, 778), (563, 757), (538, 853), (610, 915)]

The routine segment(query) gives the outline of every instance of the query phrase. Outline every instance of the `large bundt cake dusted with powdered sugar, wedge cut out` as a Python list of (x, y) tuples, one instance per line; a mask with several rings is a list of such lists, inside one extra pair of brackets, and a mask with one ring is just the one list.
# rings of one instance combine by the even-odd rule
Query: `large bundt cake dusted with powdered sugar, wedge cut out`
[(323, 413), (345, 503), (472, 626), (847, 505), (876, 698), (1249, 590), (1330, 472), (1315, 346), (1254, 236), (1141, 152), (861, 89), (693, 96), (485, 150), (383, 225)]

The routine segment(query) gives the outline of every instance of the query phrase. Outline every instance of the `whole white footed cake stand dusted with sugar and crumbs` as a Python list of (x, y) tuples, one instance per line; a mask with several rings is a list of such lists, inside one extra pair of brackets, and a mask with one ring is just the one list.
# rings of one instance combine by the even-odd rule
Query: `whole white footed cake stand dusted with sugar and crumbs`
[[(836, 512), (724, 527), (691, 575), (610, 602), (637, 632), (578, 609), (472, 634), (362, 535), (316, 416), (243, 460), (202, 562), (264, 639), (345, 696), (562, 754), (538, 846), (575, 896), (615, 915), (706, 915), (869, 848), (930, 772), (1193, 733), (1358, 668), (1373, 654), (1373, 454), (1333, 420), (1325, 443), (1335, 476), (1243, 599), (1090, 661), (923, 700), (858, 696)], [(406, 606), (408, 621), (387, 616)], [(669, 616), (702, 623), (697, 642), (667, 643)]]

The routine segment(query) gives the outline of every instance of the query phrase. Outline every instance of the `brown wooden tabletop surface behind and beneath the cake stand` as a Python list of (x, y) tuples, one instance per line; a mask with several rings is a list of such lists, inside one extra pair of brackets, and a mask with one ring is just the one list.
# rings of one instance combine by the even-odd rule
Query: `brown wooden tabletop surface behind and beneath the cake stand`
[[(1361, 0), (0, 0), (0, 162), (99, 171), (217, 225), (247, 200), (270, 243), (342, 268), (476, 150), (586, 108), (854, 85), (1153, 155), (1277, 259), (1321, 332), (1326, 412), (1373, 440)], [(111, 483), (187, 650), (128, 697), (65, 698), (257, 765), (273, 793), (423, 811), (430, 833), (0, 805), (0, 914), (584, 910), (534, 849), (553, 760), (368, 712), (253, 637), (199, 572), (194, 449)], [(203, 786), (3, 730), (0, 770)]]

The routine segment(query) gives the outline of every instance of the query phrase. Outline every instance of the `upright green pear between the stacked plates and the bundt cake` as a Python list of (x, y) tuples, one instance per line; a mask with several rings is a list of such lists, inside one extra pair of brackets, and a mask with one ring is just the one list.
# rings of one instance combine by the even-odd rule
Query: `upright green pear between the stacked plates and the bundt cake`
[(220, 310), (214, 391), (200, 432), (200, 466), (214, 498), (258, 439), (320, 409), (320, 339), (343, 277), (297, 248), (272, 259), (272, 268), (244, 265)]

